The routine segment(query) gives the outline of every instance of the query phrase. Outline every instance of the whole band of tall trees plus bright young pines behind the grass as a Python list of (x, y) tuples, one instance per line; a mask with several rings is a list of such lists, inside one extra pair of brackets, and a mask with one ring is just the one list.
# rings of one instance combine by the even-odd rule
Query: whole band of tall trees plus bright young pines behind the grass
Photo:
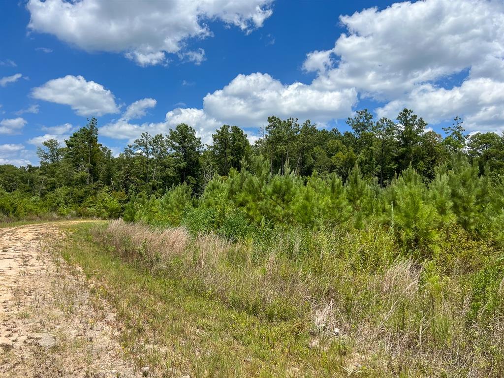
[(257, 227), (379, 223), (405, 248), (430, 245), (453, 223), (502, 240), (504, 134), (468, 136), (456, 117), (443, 137), (410, 109), (396, 120), (359, 110), (346, 123), (341, 133), (271, 116), (254, 145), (223, 125), (207, 146), (181, 123), (114, 157), (91, 118), (64, 144), (45, 141), (39, 166), (0, 166), (0, 212), (123, 216), (232, 238)]

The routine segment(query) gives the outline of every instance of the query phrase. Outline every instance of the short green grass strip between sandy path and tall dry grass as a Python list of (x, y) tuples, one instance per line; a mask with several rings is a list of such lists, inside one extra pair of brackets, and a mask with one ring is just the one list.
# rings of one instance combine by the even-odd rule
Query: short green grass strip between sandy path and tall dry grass
[(357, 356), (344, 338), (310, 346), (313, 336), (299, 320), (270, 322), (188, 293), (93, 243), (91, 227), (71, 226), (59, 251), (116, 308), (121, 345), (138, 366), (174, 377), (370, 376), (352, 365)]

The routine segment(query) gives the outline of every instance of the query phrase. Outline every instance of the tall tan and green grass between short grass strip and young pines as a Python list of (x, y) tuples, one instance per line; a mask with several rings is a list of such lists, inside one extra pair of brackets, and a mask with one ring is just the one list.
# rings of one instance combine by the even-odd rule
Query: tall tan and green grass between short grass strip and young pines
[(299, 322), (311, 346), (330, 350), (336, 343), (356, 369), (504, 376), (504, 280), (475, 311), (470, 282), (479, 271), (443, 274), (435, 261), (394, 257), (385, 232), (292, 232), (231, 243), (117, 220), (94, 235), (187, 290), (273, 322)]

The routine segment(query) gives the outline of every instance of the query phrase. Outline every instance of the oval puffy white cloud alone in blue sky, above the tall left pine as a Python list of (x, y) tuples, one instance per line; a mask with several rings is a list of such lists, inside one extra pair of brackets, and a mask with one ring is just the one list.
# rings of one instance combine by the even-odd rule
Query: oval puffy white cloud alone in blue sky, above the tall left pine
[(112, 92), (94, 81), (86, 81), (82, 76), (67, 75), (49, 80), (34, 88), (31, 96), (39, 100), (70, 105), (78, 115), (83, 116), (119, 112)]

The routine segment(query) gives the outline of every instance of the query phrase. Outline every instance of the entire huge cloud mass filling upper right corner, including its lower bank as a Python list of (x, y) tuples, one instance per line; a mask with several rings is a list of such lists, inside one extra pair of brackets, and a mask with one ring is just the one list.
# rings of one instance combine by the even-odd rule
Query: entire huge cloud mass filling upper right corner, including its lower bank
[[(355, 88), (360, 97), (385, 102), (377, 113), (394, 118), (407, 106), (431, 122), (461, 115), (469, 128), (495, 130), (502, 123), (504, 13), (499, 2), (396, 3), (340, 21), (348, 33), (332, 49), (306, 56), (303, 69), (318, 75), (313, 88)], [(462, 84), (441, 85), (466, 71)]]

